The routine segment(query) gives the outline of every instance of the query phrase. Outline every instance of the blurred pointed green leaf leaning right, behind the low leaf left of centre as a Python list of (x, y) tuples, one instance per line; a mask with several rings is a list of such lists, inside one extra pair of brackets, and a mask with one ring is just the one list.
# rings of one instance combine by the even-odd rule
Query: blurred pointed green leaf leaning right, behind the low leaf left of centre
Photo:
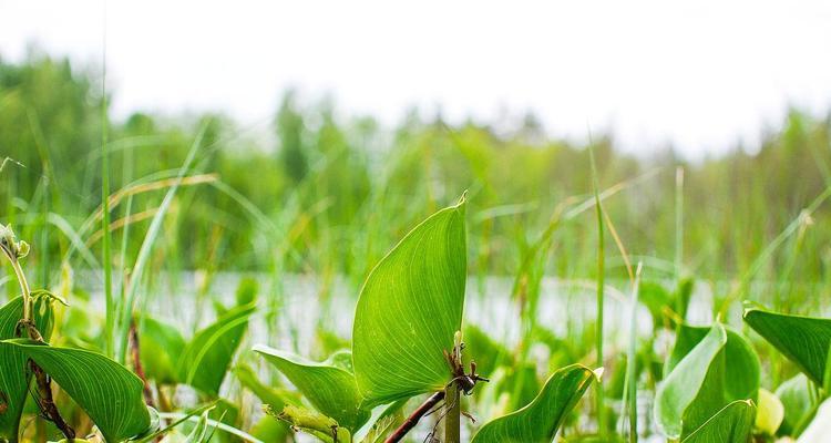
[(236, 307), (196, 332), (178, 359), (179, 381), (207, 394), (218, 395), (225, 373), (248, 329), (248, 318), (255, 309), (255, 305)]

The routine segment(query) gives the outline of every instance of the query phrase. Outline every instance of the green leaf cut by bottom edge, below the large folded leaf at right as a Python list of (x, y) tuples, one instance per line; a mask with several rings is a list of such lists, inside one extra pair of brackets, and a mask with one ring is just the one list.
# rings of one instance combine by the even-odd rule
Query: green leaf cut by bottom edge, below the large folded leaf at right
[(681, 443), (747, 443), (753, 430), (755, 416), (756, 406), (751, 400), (737, 400), (681, 440)]

